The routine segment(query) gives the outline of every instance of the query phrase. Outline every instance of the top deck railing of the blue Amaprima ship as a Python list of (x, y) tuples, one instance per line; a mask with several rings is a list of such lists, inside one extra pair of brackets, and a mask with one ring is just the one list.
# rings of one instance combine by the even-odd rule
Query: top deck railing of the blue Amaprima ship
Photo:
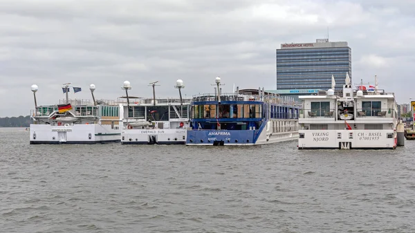
[[(203, 93), (193, 95), (192, 102), (205, 101), (219, 101), (219, 98), (216, 93)], [(262, 101), (288, 106), (302, 106), (301, 102), (297, 102), (291, 98), (279, 96), (277, 94), (251, 95), (250, 93), (243, 93), (237, 95), (236, 93), (221, 93), (221, 101)]]

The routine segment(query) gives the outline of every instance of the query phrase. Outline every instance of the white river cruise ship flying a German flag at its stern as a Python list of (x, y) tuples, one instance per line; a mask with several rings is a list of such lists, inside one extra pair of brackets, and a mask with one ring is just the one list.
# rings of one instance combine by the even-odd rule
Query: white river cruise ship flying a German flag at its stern
[[(30, 144), (94, 144), (120, 142), (120, 106), (111, 100), (70, 100), (70, 87), (64, 84), (62, 90), (66, 99), (58, 104), (37, 106), (37, 85), (32, 86), (35, 109), (30, 111)], [(81, 91), (74, 87), (74, 92)], [(95, 85), (90, 85), (91, 93)]]

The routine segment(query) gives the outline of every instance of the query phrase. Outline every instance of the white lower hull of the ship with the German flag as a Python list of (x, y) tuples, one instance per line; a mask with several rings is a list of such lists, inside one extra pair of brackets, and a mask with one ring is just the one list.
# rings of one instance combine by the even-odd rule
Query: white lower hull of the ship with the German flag
[(120, 142), (121, 129), (110, 124), (30, 124), (30, 144), (95, 144)]

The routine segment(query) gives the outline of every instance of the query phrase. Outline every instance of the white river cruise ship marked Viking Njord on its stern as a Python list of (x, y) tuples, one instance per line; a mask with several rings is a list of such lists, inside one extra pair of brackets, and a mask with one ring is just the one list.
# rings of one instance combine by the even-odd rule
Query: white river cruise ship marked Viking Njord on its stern
[(398, 111), (394, 93), (375, 86), (351, 85), (346, 75), (342, 89), (302, 95), (298, 149), (394, 149)]

